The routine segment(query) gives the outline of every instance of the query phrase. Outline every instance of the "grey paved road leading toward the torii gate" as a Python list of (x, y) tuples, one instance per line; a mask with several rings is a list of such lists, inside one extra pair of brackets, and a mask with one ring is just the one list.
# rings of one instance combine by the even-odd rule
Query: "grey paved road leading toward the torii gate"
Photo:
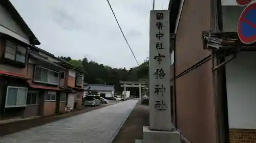
[(138, 100), (111, 106), (0, 137), (1, 143), (111, 143)]

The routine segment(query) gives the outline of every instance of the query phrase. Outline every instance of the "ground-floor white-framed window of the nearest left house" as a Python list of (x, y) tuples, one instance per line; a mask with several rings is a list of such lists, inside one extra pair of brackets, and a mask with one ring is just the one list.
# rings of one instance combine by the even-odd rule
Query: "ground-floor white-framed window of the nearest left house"
[(5, 107), (26, 106), (27, 88), (7, 87)]

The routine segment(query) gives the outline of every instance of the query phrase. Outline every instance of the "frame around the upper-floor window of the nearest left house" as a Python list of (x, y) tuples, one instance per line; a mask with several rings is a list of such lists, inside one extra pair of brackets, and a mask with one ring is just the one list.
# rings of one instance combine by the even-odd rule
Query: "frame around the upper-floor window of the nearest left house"
[[(9, 58), (6, 57), (6, 53), (10, 53), (9, 51), (6, 51), (7, 42), (10, 42), (10, 43), (15, 44), (14, 60), (13, 60), (13, 59), (9, 59)], [(25, 56), (25, 61), (24, 61), (24, 62), (17, 61), (17, 55), (19, 55), (19, 54), (17, 54), (18, 46), (25, 48), (25, 55), (24, 55), (24, 56)], [(10, 47), (10, 46), (8, 46), (8, 47)], [(12, 48), (12, 47), (10, 47), (10, 48)], [(26, 47), (26, 46), (24, 46), (24, 45), (22, 45), (22, 44), (18, 44), (17, 42), (14, 42), (14, 41), (12, 41), (12, 40), (10, 40), (10, 39), (5, 39), (5, 51), (4, 51), (4, 54), (3, 54), (3, 57), (4, 57), (5, 59), (10, 60), (10, 61), (13, 61), (13, 62), (15, 62), (15, 63), (26, 64), (26, 62), (27, 62), (27, 53), (28, 53), (28, 47)], [(11, 54), (12, 54), (12, 53), (11, 53)]]

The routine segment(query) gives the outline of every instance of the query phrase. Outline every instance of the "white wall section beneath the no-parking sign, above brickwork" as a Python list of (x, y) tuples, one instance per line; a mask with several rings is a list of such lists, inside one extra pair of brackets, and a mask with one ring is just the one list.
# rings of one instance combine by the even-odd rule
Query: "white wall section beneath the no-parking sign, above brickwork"
[(256, 52), (226, 65), (229, 128), (256, 129)]

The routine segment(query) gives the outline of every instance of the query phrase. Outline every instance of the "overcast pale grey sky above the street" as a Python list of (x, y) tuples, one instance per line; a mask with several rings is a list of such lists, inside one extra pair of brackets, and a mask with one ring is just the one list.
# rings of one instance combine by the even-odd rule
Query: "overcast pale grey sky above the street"
[[(148, 56), (153, 0), (109, 1), (141, 64)], [(114, 68), (137, 66), (106, 0), (11, 2), (41, 42), (38, 47), (55, 56), (70, 56), (76, 60), (87, 57)], [(168, 3), (169, 0), (156, 0), (155, 9), (167, 9)]]

